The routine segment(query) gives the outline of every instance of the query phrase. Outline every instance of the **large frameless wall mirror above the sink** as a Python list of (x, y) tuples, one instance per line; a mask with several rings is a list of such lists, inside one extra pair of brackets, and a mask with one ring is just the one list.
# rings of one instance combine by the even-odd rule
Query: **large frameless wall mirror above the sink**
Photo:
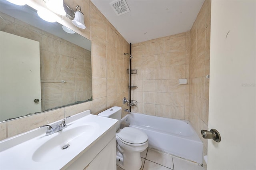
[[(23, 56), (32, 54), (32, 51), (38, 48), (38, 54), (32, 55), (33, 62), (32, 59), (27, 59), (28, 64), (36, 66), (35, 68), (30, 66), (20, 68), (26, 60), (21, 57), (22, 54), (17, 48), (14, 49), (12, 42), (9, 43), (10, 47), (6, 47), (6, 51), (8, 53), (7, 48), (12, 49), (11, 52), (16, 51), (16, 56), (7, 57), (14, 60), (2, 59), (1, 55), (0, 122), (92, 101), (90, 40), (77, 33), (65, 32), (62, 25), (57, 22), (50, 23), (42, 20), (37, 15), (37, 11), (30, 6), (17, 6), (6, 0), (0, 0), (0, 30), (1, 33), (6, 32), (0, 34), (1, 39), (4, 34), (7, 34), (7, 40), (12, 39), (8, 36), (21, 39), (22, 45), (26, 44), (26, 41), (38, 44), (38, 47), (30, 44), (28, 49), (22, 47), (25, 49)], [(2, 44), (7, 44), (3, 41), (1, 40)], [(15, 39), (14, 42), (17, 40)], [(1, 54), (2, 51), (4, 50), (1, 50)], [(38, 59), (35, 59), (36, 57)], [(34, 59), (38, 63), (34, 63)], [(4, 70), (4, 65), (11, 69)], [(27, 70), (27, 74), (21, 74), (22, 69)], [(34, 73), (34, 70), (39, 70), (37, 76), (26, 78), (30, 73)], [(10, 72), (18, 78), (12, 78)], [(4, 84), (7, 81), (10, 81), (9, 84)], [(22, 86), (22, 81), (27, 84)], [(14, 89), (6, 90), (11, 86)], [(32, 89), (36, 91), (32, 92)], [(38, 95), (27, 99), (26, 95), (31, 97), (31, 94), (36, 93)], [(20, 103), (26, 100), (30, 105), (39, 107), (31, 109), (30, 105)]]

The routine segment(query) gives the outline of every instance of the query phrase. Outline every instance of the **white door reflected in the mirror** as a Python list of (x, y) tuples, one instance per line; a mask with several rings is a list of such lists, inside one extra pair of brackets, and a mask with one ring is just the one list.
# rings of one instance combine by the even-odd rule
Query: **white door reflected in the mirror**
[(0, 121), (41, 112), (39, 42), (2, 31), (0, 40)]

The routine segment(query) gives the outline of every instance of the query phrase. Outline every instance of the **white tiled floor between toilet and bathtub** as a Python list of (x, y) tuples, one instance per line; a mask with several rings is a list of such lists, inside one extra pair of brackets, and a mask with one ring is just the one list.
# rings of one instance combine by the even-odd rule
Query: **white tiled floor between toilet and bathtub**
[[(142, 160), (140, 170), (204, 170), (198, 164), (150, 148), (140, 156)], [(119, 166), (116, 166), (116, 169), (122, 170)]]

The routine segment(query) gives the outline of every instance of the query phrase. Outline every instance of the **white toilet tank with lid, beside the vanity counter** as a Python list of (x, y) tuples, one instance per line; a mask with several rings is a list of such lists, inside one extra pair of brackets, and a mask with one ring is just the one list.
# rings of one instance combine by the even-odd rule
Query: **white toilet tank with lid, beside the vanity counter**
[(116, 130), (118, 130), (120, 128), (120, 120), (122, 117), (122, 107), (118, 107), (118, 106), (111, 107), (106, 111), (99, 113), (98, 116), (117, 119), (118, 123), (116, 125)]

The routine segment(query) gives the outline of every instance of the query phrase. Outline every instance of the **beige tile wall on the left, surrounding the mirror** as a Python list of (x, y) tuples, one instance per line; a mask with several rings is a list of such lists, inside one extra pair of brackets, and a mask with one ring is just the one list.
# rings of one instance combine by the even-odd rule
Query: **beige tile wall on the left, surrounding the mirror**
[[(70, 24), (71, 20), (64, 25), (92, 41), (93, 101), (0, 123), (0, 140), (88, 109), (95, 115), (112, 106), (128, 109), (126, 105), (123, 105), (122, 98), (128, 97), (126, 69), (129, 59), (124, 57), (124, 53), (129, 53), (129, 43), (89, 0), (64, 0), (64, 3), (72, 9), (80, 5), (84, 13), (85, 30)], [(5, 29), (14, 32), (12, 23), (8, 21), (7, 23)], [(30, 33), (24, 32), (24, 34)]]

